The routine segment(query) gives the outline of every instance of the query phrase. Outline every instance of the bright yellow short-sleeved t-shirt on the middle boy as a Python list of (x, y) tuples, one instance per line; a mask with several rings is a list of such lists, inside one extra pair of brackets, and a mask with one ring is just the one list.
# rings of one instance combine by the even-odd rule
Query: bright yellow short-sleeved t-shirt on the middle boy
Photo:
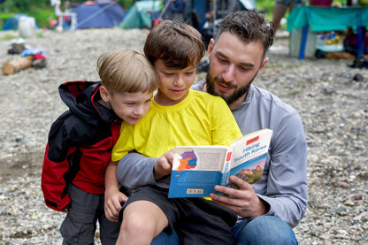
[(227, 146), (241, 136), (222, 98), (190, 89), (180, 103), (161, 106), (152, 99), (149, 112), (137, 124), (123, 122), (111, 157), (119, 161), (134, 149), (146, 157), (161, 157), (176, 146)]

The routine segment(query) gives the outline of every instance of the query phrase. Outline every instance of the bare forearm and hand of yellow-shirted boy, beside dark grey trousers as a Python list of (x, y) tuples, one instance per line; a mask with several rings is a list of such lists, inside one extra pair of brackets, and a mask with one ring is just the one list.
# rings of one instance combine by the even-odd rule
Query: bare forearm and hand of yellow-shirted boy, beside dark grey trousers
[(116, 222), (119, 220), (121, 203), (126, 202), (126, 195), (119, 191), (117, 178), (118, 162), (111, 162), (105, 173), (104, 212), (106, 218)]

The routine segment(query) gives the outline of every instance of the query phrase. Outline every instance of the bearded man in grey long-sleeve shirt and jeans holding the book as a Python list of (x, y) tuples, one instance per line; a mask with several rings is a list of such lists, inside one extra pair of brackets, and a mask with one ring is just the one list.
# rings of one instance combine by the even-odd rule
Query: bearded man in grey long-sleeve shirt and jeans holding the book
[[(192, 87), (224, 98), (243, 135), (262, 128), (273, 130), (262, 180), (249, 185), (231, 176), (239, 190), (216, 186), (225, 195), (211, 194), (213, 202), (239, 216), (232, 228), (237, 244), (297, 244), (292, 227), (299, 224), (307, 208), (307, 143), (302, 119), (292, 106), (252, 84), (268, 62), (266, 52), (273, 38), (272, 22), (262, 13), (229, 13), (209, 44), (207, 77)], [(157, 184), (153, 166), (165, 159), (130, 153), (120, 160), (119, 181), (125, 186)], [(140, 178), (130, 177), (137, 176), (132, 165), (142, 166)]]

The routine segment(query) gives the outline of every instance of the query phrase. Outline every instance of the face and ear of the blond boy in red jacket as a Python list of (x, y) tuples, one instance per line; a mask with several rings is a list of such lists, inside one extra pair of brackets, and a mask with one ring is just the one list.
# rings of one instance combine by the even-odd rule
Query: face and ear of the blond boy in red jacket
[(116, 92), (111, 94), (106, 88), (101, 88), (103, 101), (108, 103), (115, 114), (128, 124), (138, 123), (149, 111), (153, 92)]

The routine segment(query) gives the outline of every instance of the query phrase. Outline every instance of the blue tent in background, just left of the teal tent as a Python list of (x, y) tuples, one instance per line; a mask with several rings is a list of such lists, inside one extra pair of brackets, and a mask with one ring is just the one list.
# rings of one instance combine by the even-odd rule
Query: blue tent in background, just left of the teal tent
[(119, 27), (125, 11), (115, 1), (87, 1), (69, 11), (77, 13), (77, 28)]

